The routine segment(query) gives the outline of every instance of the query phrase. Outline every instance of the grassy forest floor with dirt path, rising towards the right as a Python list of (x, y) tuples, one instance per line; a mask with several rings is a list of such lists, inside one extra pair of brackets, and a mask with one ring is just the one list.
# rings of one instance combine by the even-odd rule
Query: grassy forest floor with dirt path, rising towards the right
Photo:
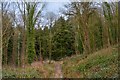
[(87, 57), (74, 55), (51, 64), (25, 68), (3, 67), (3, 78), (116, 78), (118, 49), (109, 47)]

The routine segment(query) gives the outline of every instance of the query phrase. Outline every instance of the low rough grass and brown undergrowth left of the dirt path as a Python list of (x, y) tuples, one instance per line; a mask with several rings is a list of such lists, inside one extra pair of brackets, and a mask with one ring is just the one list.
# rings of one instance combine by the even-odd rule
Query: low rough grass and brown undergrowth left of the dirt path
[(28, 66), (26, 68), (4, 67), (3, 78), (46, 78), (53, 77), (53, 64), (45, 64), (39, 68)]

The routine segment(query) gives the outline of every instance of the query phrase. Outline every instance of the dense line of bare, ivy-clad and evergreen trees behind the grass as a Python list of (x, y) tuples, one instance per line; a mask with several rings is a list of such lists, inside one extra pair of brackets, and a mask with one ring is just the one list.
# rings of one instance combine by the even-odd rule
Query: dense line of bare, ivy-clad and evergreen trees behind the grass
[[(118, 3), (72, 2), (64, 16), (47, 17), (48, 25), (41, 26), (41, 3), (14, 3), (21, 22), (2, 3), (3, 64), (24, 66), (33, 61), (60, 60), (66, 56), (85, 54), (118, 43)], [(21, 9), (22, 5), (22, 9)], [(42, 5), (38, 11), (37, 6)], [(15, 25), (16, 24), (16, 25)]]

